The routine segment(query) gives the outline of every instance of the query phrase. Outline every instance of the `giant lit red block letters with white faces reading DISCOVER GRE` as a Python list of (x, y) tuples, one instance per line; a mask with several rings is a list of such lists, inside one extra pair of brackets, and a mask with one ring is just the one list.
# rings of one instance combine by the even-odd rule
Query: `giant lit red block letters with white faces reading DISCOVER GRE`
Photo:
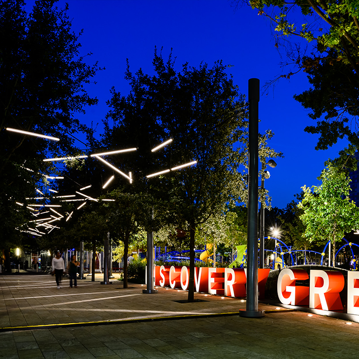
[[(265, 286), (269, 271), (269, 269), (258, 269), (259, 299), (262, 300), (265, 299)], [(154, 276), (156, 286), (188, 289), (189, 267), (156, 266)], [(296, 281), (308, 279), (309, 287), (296, 285)], [(246, 297), (246, 283), (247, 269), (195, 268), (195, 292), (243, 298)], [(312, 312), (318, 310), (318, 314), (323, 314), (321, 313), (323, 310), (343, 311), (340, 299), (340, 292), (343, 288), (343, 274), (330, 270), (310, 270), (308, 275), (303, 269), (285, 268), (280, 271), (277, 282), (278, 298), (284, 306), (305, 306)], [(347, 272), (346, 304), (346, 312), (351, 316), (350, 320), (359, 322), (359, 272)], [(343, 319), (345, 318), (343, 317)]]

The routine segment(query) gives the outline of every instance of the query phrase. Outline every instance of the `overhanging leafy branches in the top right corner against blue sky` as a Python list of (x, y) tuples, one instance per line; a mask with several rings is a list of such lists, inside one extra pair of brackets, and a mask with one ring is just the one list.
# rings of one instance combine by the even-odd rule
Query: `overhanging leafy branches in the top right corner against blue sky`
[[(305, 129), (320, 134), (316, 149), (326, 149), (344, 136), (358, 148), (359, 10), (356, 2), (236, 0), (233, 3), (250, 4), (259, 15), (270, 19), (276, 47), (285, 50), (286, 65), (295, 68), (280, 77), (290, 78), (301, 70), (308, 74), (311, 88), (294, 98), (310, 109), (309, 116), (317, 120), (316, 126)], [(298, 42), (295, 39), (299, 39)], [(307, 46), (303, 49), (303, 43), (313, 44), (310, 54), (306, 53)]]

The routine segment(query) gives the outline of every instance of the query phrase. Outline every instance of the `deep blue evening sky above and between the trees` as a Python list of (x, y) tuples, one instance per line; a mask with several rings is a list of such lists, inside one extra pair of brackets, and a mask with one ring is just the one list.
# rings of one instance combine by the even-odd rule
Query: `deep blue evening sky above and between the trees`
[[(115, 86), (123, 95), (130, 87), (124, 79), (126, 59), (136, 72), (140, 67), (152, 73), (154, 48), (163, 47), (164, 58), (173, 48), (178, 70), (188, 62), (198, 66), (216, 60), (233, 65), (228, 73), (247, 95), (248, 79), (256, 77), (261, 85), (281, 73), (283, 60), (275, 48), (269, 23), (247, 6), (234, 10), (226, 0), (69, 0), (68, 15), (73, 30), (83, 29), (79, 42), (81, 54), (92, 52), (88, 63), (98, 61), (106, 69), (99, 72), (96, 85), (88, 90), (99, 103), (89, 108), (83, 121), (101, 124), (107, 112), (109, 90)], [(32, 4), (32, 2), (28, 2)], [(60, 1), (59, 6), (65, 2)], [(293, 99), (308, 88), (301, 73), (290, 81), (281, 80), (259, 103), (260, 131), (271, 129), (275, 136), (269, 145), (284, 153), (270, 169), (266, 188), (272, 205), (284, 208), (300, 192), (300, 187), (317, 185), (324, 161), (335, 158), (344, 147), (338, 143), (327, 151), (315, 151), (318, 136), (303, 130), (314, 121), (308, 111)], [(99, 125), (100, 128), (100, 125)]]

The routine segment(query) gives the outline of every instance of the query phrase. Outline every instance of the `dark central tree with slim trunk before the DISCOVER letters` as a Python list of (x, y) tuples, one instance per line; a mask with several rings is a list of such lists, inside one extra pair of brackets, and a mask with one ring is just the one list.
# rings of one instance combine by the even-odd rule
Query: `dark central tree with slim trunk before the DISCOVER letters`
[[(112, 88), (102, 143), (106, 148), (138, 148), (111, 161), (133, 171), (134, 183), (126, 191), (153, 198), (154, 221), (146, 219), (149, 213), (142, 219), (147, 223), (140, 224), (157, 230), (172, 223), (189, 234), (188, 299), (193, 301), (196, 227), (223, 212), (228, 202), (247, 199), (247, 104), (220, 61), (198, 68), (186, 63), (177, 71), (172, 56), (165, 62), (156, 49), (153, 66), (150, 76), (141, 69), (133, 74), (128, 65), (128, 96)], [(151, 152), (169, 138), (173, 143)], [(193, 160), (198, 161), (195, 166), (146, 179)]]

